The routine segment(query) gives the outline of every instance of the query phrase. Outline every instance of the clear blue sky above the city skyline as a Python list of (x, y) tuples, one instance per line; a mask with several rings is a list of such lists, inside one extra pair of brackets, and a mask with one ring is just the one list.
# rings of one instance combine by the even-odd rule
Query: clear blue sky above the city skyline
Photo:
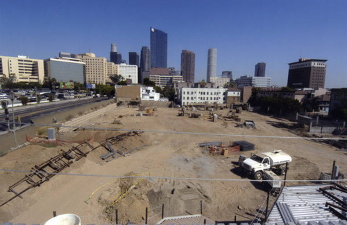
[(254, 75), (266, 62), (272, 84), (287, 84), (288, 63), (325, 59), (325, 87), (347, 87), (347, 1), (6, 1), (0, 0), (0, 55), (45, 59), (60, 51), (123, 58), (149, 46), (149, 27), (168, 34), (168, 66), (183, 49), (196, 54), (195, 80), (206, 79), (208, 48), (217, 75)]

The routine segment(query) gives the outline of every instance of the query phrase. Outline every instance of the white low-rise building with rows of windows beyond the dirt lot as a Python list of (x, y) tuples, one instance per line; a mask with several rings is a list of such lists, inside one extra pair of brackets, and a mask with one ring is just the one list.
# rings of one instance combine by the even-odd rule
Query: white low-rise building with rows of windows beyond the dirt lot
[(225, 88), (194, 88), (182, 87), (178, 101), (181, 105), (190, 105), (192, 103), (214, 103), (223, 104), (226, 102)]

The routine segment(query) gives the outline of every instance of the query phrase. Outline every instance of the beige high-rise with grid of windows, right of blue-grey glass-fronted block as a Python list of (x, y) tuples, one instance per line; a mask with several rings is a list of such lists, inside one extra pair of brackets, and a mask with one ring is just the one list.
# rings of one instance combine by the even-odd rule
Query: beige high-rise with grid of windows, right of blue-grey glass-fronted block
[(87, 84), (106, 84), (108, 64), (105, 57), (95, 57), (94, 53), (78, 54), (77, 57), (85, 62), (85, 81)]

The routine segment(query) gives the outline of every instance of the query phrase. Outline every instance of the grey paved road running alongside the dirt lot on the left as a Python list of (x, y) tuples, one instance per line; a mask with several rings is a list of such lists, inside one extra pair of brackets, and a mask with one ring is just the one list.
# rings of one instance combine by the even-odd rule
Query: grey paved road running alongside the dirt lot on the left
[[(74, 100), (62, 100), (58, 102), (47, 102), (41, 103), (39, 105), (27, 105), (14, 108), (15, 120), (17, 121), (17, 116), (21, 117), (22, 123), (31, 123), (31, 119), (42, 116), (44, 114), (51, 114), (55, 111), (71, 109), (71, 107), (78, 107), (81, 105), (87, 105), (92, 102), (107, 100), (108, 98), (82, 98)], [(12, 123), (12, 109), (8, 109), (10, 122)], [(0, 109), (0, 132), (5, 131), (8, 128), (7, 122), (5, 120), (6, 115), (3, 109)], [(16, 123), (19, 126), (19, 123)], [(12, 125), (10, 125), (12, 127)]]

